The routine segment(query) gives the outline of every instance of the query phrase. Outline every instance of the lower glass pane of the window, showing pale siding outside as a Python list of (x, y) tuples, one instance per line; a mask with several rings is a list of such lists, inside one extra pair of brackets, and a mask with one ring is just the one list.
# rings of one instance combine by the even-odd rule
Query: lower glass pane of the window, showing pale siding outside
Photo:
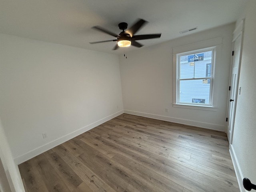
[(210, 79), (180, 80), (180, 103), (209, 104), (209, 99)]

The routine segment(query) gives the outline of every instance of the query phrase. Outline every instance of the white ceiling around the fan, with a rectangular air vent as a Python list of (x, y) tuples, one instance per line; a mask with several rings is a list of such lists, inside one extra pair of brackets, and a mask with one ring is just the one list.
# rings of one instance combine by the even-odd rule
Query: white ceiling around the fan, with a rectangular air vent
[[(114, 39), (91, 27), (99, 25), (119, 34), (118, 23), (127, 22), (129, 28), (142, 18), (149, 23), (137, 34), (162, 33), (161, 38), (138, 41), (146, 47), (235, 22), (246, 1), (0, 0), (0, 33), (121, 54), (124, 48), (112, 50), (116, 42), (89, 44)], [(198, 29), (193, 32), (179, 33), (196, 26)]]

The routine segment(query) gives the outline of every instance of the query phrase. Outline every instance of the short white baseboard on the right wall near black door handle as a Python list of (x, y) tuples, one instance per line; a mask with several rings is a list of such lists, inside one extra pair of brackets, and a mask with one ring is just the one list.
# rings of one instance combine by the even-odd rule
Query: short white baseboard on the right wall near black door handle
[(236, 153), (234, 151), (234, 148), (233, 148), (232, 144), (229, 145), (229, 152), (230, 152), (230, 156), (231, 156), (231, 159), (232, 159), (232, 162), (233, 162), (234, 170), (236, 172), (236, 178), (237, 178), (237, 182), (238, 182), (240, 192), (246, 192), (247, 190), (245, 190), (244, 186), (243, 186), (243, 178), (244, 177), (243, 177), (241, 168), (239, 166), (238, 160), (236, 158)]

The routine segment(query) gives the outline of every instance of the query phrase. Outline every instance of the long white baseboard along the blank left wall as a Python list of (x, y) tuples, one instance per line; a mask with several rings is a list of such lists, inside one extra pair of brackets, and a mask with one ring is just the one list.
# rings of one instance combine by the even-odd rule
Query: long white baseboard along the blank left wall
[(74, 137), (76, 137), (76, 136), (78, 136), (78, 135), (80, 135), (80, 134), (82, 134), (82, 133), (84, 133), (84, 132), (86, 132), (86, 131), (88, 131), (88, 130), (90, 130), (90, 129), (92, 129), (92, 128), (100, 125), (100, 124), (102, 124), (102, 123), (104, 123), (104, 122), (106, 122), (106, 121), (108, 121), (108, 120), (111, 120), (112, 118), (115, 118), (116, 116), (121, 115), (123, 113), (124, 113), (124, 110), (120, 110), (120, 111), (118, 111), (118, 112), (116, 112), (116, 113), (114, 113), (114, 114), (112, 114), (110, 116), (102, 118), (102, 119), (100, 119), (100, 120), (98, 120), (98, 121), (96, 121), (96, 122), (94, 122), (92, 124), (89, 124), (89, 125), (87, 125), (87, 126), (85, 126), (83, 128), (80, 128), (79, 130), (76, 130), (76, 131), (74, 131), (74, 132), (72, 132), (70, 134), (67, 134), (67, 135), (65, 135), (65, 136), (63, 136), (61, 138), (58, 138), (58, 139), (56, 139), (54, 141), (51, 141), (51, 142), (49, 142), (49, 143), (47, 143), (47, 144), (45, 144), (43, 146), (40, 146), (40, 147), (38, 147), (38, 148), (36, 148), (34, 150), (31, 150), (31, 151), (29, 151), (29, 152), (27, 152), (27, 153), (25, 153), (25, 154), (23, 154), (21, 156), (18, 156), (16, 158), (14, 158), (14, 162), (16, 164), (21, 164), (21, 163), (23, 163), (23, 162), (25, 162), (25, 161), (27, 161), (27, 160), (37, 156), (37, 155), (39, 155), (39, 154), (41, 154), (43, 152), (46, 152), (47, 150), (50, 150), (50, 149), (52, 149), (52, 148), (54, 148), (54, 147), (56, 147), (56, 146), (58, 146), (58, 145), (60, 145), (60, 144), (62, 144), (64, 142), (66, 142), (66, 141), (68, 141), (68, 140), (70, 140), (70, 139), (72, 139), (72, 138), (74, 138)]

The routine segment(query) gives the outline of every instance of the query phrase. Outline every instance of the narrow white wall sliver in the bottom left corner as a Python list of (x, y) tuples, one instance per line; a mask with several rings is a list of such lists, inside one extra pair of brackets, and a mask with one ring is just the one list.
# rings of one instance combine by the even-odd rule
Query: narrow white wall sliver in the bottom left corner
[(0, 191), (1, 192), (24, 192), (20, 172), (14, 163), (10, 146), (0, 120)]

